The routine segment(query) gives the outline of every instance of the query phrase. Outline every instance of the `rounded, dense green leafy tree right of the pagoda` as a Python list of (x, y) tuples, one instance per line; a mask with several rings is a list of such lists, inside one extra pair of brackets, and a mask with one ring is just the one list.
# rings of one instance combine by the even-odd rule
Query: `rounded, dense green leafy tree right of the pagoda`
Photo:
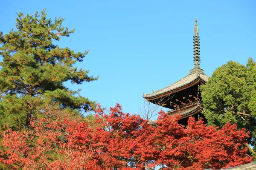
[(229, 61), (217, 68), (201, 86), (204, 115), (209, 125), (222, 127), (228, 121), (250, 130), (250, 144), (256, 138), (256, 63), (247, 66)]

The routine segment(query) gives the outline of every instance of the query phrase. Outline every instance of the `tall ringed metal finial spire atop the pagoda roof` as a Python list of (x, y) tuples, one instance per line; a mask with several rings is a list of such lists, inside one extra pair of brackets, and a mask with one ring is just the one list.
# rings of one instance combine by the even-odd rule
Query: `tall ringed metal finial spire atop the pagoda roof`
[(200, 39), (199, 39), (199, 31), (198, 31), (198, 24), (197, 19), (195, 19), (195, 27), (194, 27), (194, 65), (195, 67), (199, 67), (200, 65)]

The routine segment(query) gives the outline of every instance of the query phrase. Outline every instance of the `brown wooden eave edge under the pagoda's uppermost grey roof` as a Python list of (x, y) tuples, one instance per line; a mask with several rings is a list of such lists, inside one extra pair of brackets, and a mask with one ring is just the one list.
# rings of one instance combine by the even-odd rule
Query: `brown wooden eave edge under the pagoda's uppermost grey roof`
[(159, 99), (159, 98), (163, 98), (165, 96), (169, 96), (170, 94), (175, 94), (179, 91), (183, 91), (184, 89), (187, 89), (187, 88), (190, 88), (196, 84), (198, 84), (198, 82), (200, 82), (201, 84), (206, 84), (206, 81), (204, 81), (203, 79), (201, 79), (201, 77), (198, 77), (196, 78), (194, 81), (186, 84), (186, 85), (183, 85), (181, 87), (178, 87), (176, 89), (173, 89), (171, 91), (167, 91), (167, 92), (164, 92), (163, 94), (158, 94), (156, 96), (150, 96), (150, 97), (147, 97), (147, 96), (143, 96), (143, 98), (146, 100), (146, 101), (151, 101), (151, 100), (154, 100), (154, 99)]

